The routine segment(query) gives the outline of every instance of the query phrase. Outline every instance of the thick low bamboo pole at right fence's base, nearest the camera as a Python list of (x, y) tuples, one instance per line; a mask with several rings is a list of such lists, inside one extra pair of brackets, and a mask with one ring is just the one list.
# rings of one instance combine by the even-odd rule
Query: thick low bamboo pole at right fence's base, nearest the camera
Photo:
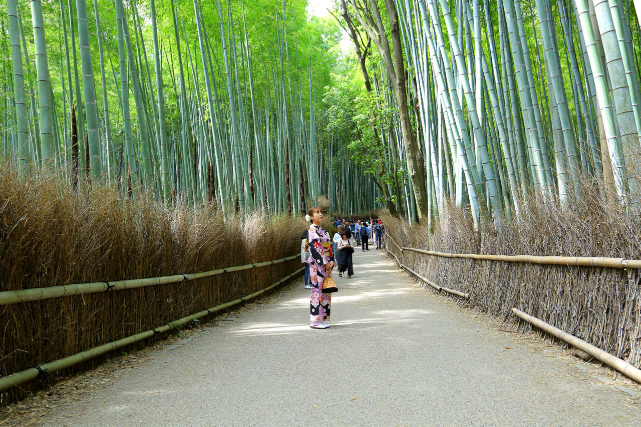
[(537, 317), (525, 314), (517, 308), (512, 308), (512, 312), (517, 315), (517, 317), (520, 317), (520, 319), (523, 319), (524, 321), (533, 324), (537, 328), (544, 330), (550, 335), (554, 335), (554, 337), (567, 342), (568, 344), (570, 344), (570, 346), (576, 347), (581, 351), (585, 351), (585, 353), (588, 353), (588, 355), (600, 360), (613, 369), (616, 369), (628, 378), (641, 383), (641, 370), (637, 369), (632, 364), (629, 364), (629, 362), (626, 362), (625, 360), (622, 360), (617, 356), (611, 355), (610, 353), (606, 353), (599, 347), (595, 347), (592, 344), (589, 344), (588, 342), (575, 337), (574, 335), (570, 335), (569, 333), (564, 332), (558, 328), (554, 328), (554, 326), (552, 326), (551, 324), (545, 323), (541, 319), (537, 319)]

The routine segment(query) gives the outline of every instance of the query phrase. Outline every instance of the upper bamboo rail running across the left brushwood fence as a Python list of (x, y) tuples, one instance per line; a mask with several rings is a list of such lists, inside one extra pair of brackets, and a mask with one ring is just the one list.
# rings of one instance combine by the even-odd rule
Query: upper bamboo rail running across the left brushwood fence
[(57, 298), (62, 296), (71, 296), (78, 294), (92, 294), (94, 292), (103, 292), (105, 290), (121, 290), (141, 288), (153, 285), (164, 285), (165, 283), (177, 283), (179, 281), (196, 280), (204, 277), (215, 276), (226, 272), (249, 270), (267, 265), (279, 264), (281, 262), (294, 260), (300, 255), (292, 255), (279, 260), (265, 261), (254, 264), (237, 265), (235, 267), (225, 267), (210, 271), (203, 271), (190, 274), (174, 274), (173, 276), (151, 277), (145, 279), (117, 280), (117, 281), (98, 281), (94, 283), (76, 283), (74, 285), (51, 286), (46, 288), (33, 288), (21, 290), (6, 290), (0, 292), (0, 305), (24, 303), (26, 301), (40, 301), (42, 299)]

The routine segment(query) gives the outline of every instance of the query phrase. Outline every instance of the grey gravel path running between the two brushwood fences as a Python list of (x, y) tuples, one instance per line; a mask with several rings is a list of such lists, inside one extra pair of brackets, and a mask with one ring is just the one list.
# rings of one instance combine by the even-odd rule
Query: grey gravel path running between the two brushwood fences
[(590, 364), (420, 289), (383, 251), (358, 249), (354, 270), (336, 277), (328, 330), (309, 328), (297, 281), (38, 423), (641, 426), (640, 398)]

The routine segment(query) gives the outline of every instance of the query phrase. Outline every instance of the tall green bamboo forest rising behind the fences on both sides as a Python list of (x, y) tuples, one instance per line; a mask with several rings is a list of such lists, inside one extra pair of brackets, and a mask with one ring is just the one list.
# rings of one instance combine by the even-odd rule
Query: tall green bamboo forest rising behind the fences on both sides
[(449, 201), (500, 224), (586, 178), (638, 199), (629, 1), (86, 3), (6, 4), (1, 155), (22, 171), (430, 223)]

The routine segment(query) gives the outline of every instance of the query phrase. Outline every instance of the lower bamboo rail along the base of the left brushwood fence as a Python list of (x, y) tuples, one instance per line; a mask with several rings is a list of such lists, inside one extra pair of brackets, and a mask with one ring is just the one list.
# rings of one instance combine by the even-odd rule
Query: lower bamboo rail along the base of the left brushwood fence
[[(299, 256), (299, 255), (297, 255)], [(204, 317), (208, 314), (214, 314), (216, 312), (219, 312), (221, 310), (224, 310), (225, 308), (244, 303), (245, 301), (248, 301), (249, 299), (252, 299), (260, 294), (263, 294), (264, 292), (267, 292), (268, 290), (280, 285), (281, 283), (287, 281), (288, 279), (292, 278), (292, 276), (295, 276), (297, 273), (303, 271), (303, 268), (297, 269), (294, 271), (292, 274), (289, 276), (286, 276), (285, 278), (282, 278), (281, 280), (277, 281), (273, 285), (270, 285), (266, 287), (265, 289), (258, 290), (257, 292), (254, 292), (253, 294), (249, 294), (245, 297), (235, 299), (233, 301), (229, 301), (228, 303), (224, 303), (221, 305), (214, 306), (212, 308), (207, 308), (206, 310), (203, 310), (202, 312), (198, 312), (196, 314), (188, 315), (187, 317), (182, 317), (181, 319), (178, 319), (176, 321), (164, 324), (163, 326), (160, 326), (158, 328), (154, 328), (148, 331), (140, 332), (135, 335), (130, 335), (129, 337), (122, 338), (119, 340), (115, 340), (112, 342), (108, 342), (107, 344), (103, 344), (102, 346), (97, 346), (93, 347), (90, 349), (87, 349), (85, 351), (81, 351), (80, 353), (76, 353), (75, 355), (67, 356), (62, 359), (54, 360), (53, 362), (49, 362), (47, 364), (43, 365), (38, 365), (36, 367), (32, 367), (29, 369), (25, 369), (24, 371), (20, 371), (15, 374), (11, 374), (8, 376), (4, 376), (3, 378), (0, 378), (0, 391), (10, 389), (11, 387), (14, 387), (15, 385), (20, 385), (22, 383), (26, 383), (27, 381), (31, 381), (38, 376), (40, 376), (41, 373), (53, 373), (55, 371), (58, 371), (60, 369), (70, 367), (72, 365), (79, 364), (81, 362), (84, 362), (85, 360), (90, 360), (94, 357), (97, 357), (99, 355), (103, 355), (104, 353), (108, 353), (110, 351), (113, 351), (115, 349), (119, 349), (124, 346), (128, 346), (129, 344), (133, 344), (138, 341), (142, 341), (144, 339), (147, 339), (149, 337), (152, 337), (156, 333), (163, 333), (175, 328), (178, 328), (178, 326), (181, 326), (183, 324), (187, 324), (188, 322), (194, 321), (195, 319), (200, 319), (201, 317)]]

